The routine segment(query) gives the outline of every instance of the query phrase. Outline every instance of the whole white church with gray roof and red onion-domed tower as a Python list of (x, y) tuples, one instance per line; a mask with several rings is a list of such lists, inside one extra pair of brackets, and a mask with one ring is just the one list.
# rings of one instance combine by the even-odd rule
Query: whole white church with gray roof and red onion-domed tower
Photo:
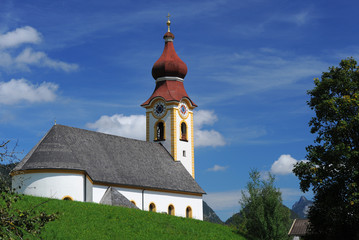
[(186, 64), (174, 35), (152, 68), (155, 90), (146, 110), (146, 141), (55, 124), (12, 170), (18, 193), (138, 208), (203, 220), (195, 181), (193, 109), (184, 88)]

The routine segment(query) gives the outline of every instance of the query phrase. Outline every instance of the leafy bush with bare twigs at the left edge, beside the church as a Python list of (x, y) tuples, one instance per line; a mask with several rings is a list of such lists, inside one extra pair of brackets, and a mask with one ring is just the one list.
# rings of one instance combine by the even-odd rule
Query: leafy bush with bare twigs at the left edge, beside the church
[[(0, 142), (0, 164), (16, 159), (15, 151), (9, 151), (8, 144), (9, 141)], [(17, 209), (15, 204), (21, 198), (11, 189), (9, 178), (0, 175), (0, 239), (22, 239), (25, 234), (38, 237), (44, 225), (56, 218), (55, 214), (36, 212), (39, 205), (30, 210)]]

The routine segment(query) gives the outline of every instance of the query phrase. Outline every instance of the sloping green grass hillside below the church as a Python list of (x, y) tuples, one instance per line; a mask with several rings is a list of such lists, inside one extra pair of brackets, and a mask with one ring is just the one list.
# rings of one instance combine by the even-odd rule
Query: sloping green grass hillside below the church
[[(45, 198), (24, 196), (20, 209)], [(36, 208), (58, 212), (41, 232), (43, 239), (242, 239), (227, 226), (136, 209), (51, 199)]]

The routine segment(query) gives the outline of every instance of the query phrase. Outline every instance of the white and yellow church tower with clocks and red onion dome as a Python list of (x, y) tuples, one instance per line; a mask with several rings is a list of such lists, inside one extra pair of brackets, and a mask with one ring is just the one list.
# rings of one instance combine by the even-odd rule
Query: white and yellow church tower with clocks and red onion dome
[(197, 105), (183, 85), (187, 66), (174, 49), (170, 23), (163, 36), (163, 53), (152, 68), (155, 90), (141, 105), (146, 108), (146, 140), (160, 142), (194, 178), (193, 109)]

